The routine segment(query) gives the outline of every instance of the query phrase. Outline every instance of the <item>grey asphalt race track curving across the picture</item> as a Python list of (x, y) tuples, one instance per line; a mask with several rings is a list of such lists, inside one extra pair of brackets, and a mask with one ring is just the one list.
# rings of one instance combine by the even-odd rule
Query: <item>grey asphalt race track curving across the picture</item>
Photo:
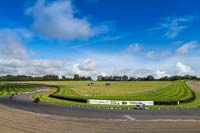
[[(40, 90), (48, 89), (46, 86), (37, 86), (37, 88)], [(62, 106), (47, 103), (33, 103), (30, 97), (34, 94), (26, 93), (15, 95), (11, 101), (9, 100), (9, 96), (0, 97), (0, 104), (34, 113), (70, 117), (125, 120), (200, 120), (200, 108), (133, 110)]]

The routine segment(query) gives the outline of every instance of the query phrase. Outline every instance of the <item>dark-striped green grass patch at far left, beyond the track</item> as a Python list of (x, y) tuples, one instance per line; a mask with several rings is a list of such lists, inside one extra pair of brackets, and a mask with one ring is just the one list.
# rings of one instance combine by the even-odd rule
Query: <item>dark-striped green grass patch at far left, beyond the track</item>
[(0, 84), (0, 96), (32, 91), (36, 91), (36, 89), (28, 87), (26, 85)]

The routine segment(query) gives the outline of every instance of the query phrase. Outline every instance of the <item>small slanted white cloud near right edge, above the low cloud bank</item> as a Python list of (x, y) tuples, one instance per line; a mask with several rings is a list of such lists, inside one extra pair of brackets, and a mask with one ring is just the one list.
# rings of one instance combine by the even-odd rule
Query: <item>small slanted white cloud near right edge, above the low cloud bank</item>
[(176, 52), (178, 54), (187, 54), (190, 50), (197, 48), (198, 42), (197, 41), (191, 41), (188, 43), (183, 44), (181, 47), (179, 47)]

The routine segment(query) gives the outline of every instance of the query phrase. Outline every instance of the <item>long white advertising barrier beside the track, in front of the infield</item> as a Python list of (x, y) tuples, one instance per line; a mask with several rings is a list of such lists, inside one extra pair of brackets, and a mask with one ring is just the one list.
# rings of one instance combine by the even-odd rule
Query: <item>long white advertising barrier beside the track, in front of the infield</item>
[(137, 105), (137, 104), (145, 104), (145, 105), (154, 105), (153, 101), (117, 101), (117, 100), (94, 100), (88, 99), (87, 103), (89, 104), (110, 104), (110, 105)]

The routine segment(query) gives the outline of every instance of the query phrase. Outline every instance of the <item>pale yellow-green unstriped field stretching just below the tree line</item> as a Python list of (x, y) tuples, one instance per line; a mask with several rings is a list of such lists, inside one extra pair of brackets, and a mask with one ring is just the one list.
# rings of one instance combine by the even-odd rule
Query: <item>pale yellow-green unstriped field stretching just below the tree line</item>
[[(141, 93), (148, 93), (162, 89), (171, 84), (168, 81), (121, 81), (106, 82), (96, 81), (92, 86), (88, 86), (90, 81), (42, 81), (42, 82), (23, 82), (32, 84), (56, 85), (60, 86), (63, 91), (71, 91), (80, 96), (124, 96)], [(68, 92), (66, 92), (68, 93)]]

